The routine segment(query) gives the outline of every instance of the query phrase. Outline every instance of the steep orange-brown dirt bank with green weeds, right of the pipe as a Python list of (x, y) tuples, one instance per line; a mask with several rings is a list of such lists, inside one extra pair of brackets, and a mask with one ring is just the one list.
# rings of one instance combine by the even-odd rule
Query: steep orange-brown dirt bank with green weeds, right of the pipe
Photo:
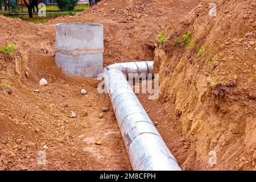
[(176, 147), (175, 155), (183, 169), (256, 169), (256, 3), (215, 2), (216, 17), (208, 14), (210, 1), (201, 2), (166, 28), (170, 36), (155, 50), (163, 137), (179, 131), (183, 150)]

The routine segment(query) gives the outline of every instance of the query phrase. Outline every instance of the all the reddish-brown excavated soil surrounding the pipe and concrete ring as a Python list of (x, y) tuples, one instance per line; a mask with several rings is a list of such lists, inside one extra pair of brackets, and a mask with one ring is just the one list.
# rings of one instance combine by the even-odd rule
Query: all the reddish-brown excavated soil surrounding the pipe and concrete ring
[[(218, 0), (217, 17), (209, 17), (209, 3), (103, 0), (76, 16), (39, 25), (0, 16), (0, 47), (15, 44), (15, 53), (0, 53), (0, 84), (8, 85), (0, 90), (0, 170), (131, 170), (98, 81), (56, 68), (60, 22), (104, 24), (105, 66), (155, 61), (160, 98), (138, 97), (182, 169), (256, 169), (256, 5)], [(194, 46), (176, 45), (174, 39), (188, 31)], [(169, 35), (163, 45), (161, 32)], [(39, 85), (41, 78), (47, 86)], [(38, 164), (40, 151), (46, 152), (46, 165)], [(210, 151), (217, 154), (213, 166)]]

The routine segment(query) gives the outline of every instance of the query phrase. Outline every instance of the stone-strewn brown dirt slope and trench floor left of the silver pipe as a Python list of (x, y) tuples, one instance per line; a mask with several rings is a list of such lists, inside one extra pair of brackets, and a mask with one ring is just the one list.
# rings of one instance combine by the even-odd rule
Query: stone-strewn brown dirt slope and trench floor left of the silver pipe
[(55, 67), (52, 27), (0, 22), (0, 47), (15, 47), (0, 53), (0, 170), (130, 169), (108, 95), (98, 94), (97, 81)]

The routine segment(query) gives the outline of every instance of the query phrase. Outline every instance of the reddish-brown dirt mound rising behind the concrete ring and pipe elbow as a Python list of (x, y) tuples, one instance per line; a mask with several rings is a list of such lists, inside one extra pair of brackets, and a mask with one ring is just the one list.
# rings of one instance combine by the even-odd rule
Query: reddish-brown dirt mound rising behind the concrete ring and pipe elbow
[(104, 65), (129, 60), (152, 60), (157, 35), (183, 18), (199, 1), (104, 0), (76, 16), (51, 23), (96, 22), (104, 24)]

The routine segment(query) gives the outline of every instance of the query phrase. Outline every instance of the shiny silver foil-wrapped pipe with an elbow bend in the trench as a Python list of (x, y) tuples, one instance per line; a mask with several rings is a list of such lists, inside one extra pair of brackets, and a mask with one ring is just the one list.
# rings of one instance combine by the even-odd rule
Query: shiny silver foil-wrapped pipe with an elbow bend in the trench
[(181, 170), (124, 76), (153, 71), (153, 61), (109, 65), (104, 69), (105, 86), (133, 169)]

